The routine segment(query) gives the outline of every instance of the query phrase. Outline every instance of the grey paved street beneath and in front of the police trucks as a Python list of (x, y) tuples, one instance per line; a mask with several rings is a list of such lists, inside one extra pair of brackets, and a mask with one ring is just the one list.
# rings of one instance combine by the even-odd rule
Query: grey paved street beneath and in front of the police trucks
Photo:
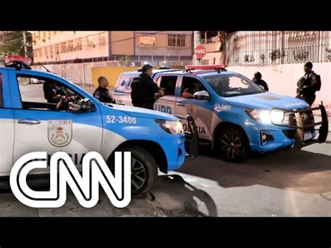
[(221, 161), (200, 147), (198, 159), (169, 175), (159, 173), (152, 196), (133, 199), (124, 209), (113, 207), (102, 190), (91, 209), (80, 207), (71, 191), (58, 209), (26, 207), (4, 191), (0, 216), (331, 216), (331, 133), (326, 143), (243, 163)]

